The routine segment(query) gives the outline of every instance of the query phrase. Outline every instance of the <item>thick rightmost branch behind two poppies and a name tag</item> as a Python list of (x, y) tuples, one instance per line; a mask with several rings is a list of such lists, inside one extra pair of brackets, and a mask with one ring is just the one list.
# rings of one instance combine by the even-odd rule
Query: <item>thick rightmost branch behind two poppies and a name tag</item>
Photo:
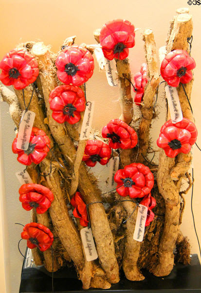
[[(167, 42), (167, 53), (174, 49), (188, 51), (187, 38), (192, 35), (191, 15), (178, 14), (174, 18), (171, 33)], [(192, 81), (185, 85), (186, 92), (190, 98)], [(187, 98), (184, 95), (182, 85), (178, 87), (178, 94), (183, 111), (183, 117), (193, 120)], [(169, 117), (169, 115), (168, 115)], [(159, 263), (153, 270), (156, 276), (168, 275), (174, 265), (173, 250), (179, 233), (180, 219), (180, 195), (182, 180), (178, 184), (174, 181), (181, 179), (190, 167), (191, 155), (179, 154), (175, 159), (166, 157), (164, 150), (160, 151), (159, 170), (157, 183), (161, 195), (165, 201), (164, 231), (159, 245)], [(171, 237), (170, 237), (171, 235)]]

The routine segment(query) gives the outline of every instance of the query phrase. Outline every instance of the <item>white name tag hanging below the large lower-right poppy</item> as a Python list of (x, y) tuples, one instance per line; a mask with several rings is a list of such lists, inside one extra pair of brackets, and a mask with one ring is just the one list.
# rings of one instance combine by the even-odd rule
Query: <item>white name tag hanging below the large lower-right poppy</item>
[(137, 219), (135, 223), (135, 230), (133, 234), (133, 239), (139, 242), (143, 241), (144, 233), (145, 233), (145, 223), (147, 216), (147, 207), (143, 205), (139, 205)]

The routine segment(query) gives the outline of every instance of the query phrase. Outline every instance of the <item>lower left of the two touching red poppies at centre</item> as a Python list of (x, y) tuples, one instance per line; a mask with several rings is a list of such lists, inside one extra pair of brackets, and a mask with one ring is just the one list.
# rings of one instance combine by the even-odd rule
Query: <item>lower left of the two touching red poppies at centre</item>
[(82, 161), (89, 167), (94, 167), (97, 162), (106, 165), (111, 157), (111, 147), (99, 140), (88, 140), (85, 146)]

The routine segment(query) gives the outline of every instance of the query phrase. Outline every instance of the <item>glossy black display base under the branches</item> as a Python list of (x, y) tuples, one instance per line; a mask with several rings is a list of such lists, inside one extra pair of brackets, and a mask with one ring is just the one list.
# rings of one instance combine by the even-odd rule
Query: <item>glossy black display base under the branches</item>
[[(166, 277), (155, 277), (143, 270), (144, 281), (128, 281), (121, 272), (121, 281), (108, 290), (82, 289), (73, 268), (65, 268), (54, 273), (54, 293), (200, 293), (201, 265), (197, 254), (191, 257), (191, 265), (178, 264)], [(22, 269), (19, 293), (52, 293), (52, 274), (44, 267)]]

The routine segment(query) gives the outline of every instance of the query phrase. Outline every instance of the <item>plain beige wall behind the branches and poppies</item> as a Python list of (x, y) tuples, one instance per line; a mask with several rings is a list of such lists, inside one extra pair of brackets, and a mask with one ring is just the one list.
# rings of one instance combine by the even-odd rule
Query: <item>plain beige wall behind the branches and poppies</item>
[[(193, 15), (193, 47), (192, 56), (195, 58), (197, 68), (194, 70), (195, 82), (192, 92), (192, 105), (196, 124), (201, 129), (201, 98), (200, 98), (200, 72), (201, 72), (201, 37), (200, 37), (200, 10), (196, 5), (187, 5), (187, 0), (0, 0), (0, 59), (3, 55), (15, 48), (18, 42), (31, 40), (42, 40), (45, 44), (51, 44), (52, 50), (57, 51), (62, 41), (69, 36), (77, 35), (77, 43), (94, 43), (93, 30), (101, 27), (106, 21), (115, 18), (128, 19), (133, 22), (136, 28), (136, 45), (130, 49), (129, 59), (132, 73), (139, 70), (140, 64), (145, 61), (141, 32), (143, 28), (153, 29), (156, 45), (159, 48), (164, 45), (169, 21), (172, 19), (175, 10), (179, 7), (189, 7)], [(95, 114), (93, 127), (98, 128), (105, 125), (111, 118), (118, 117), (120, 107), (118, 104), (118, 89), (107, 84), (105, 74), (96, 69), (91, 80), (87, 83), (87, 98), (95, 100)], [(152, 126), (152, 134), (156, 139), (160, 126), (164, 121), (164, 106), (160, 105), (158, 110), (161, 115)], [(24, 211), (18, 202), (19, 183), (15, 178), (15, 172), (22, 169), (17, 163), (16, 156), (11, 151), (11, 144), (15, 137), (14, 125), (8, 114), (8, 106), (1, 105), (2, 118), (2, 143), (4, 156), (4, 175), (6, 183), (6, 195), (4, 197), (6, 212), (3, 217), (8, 223), (9, 257), (10, 262), (10, 284), (12, 293), (18, 292), (20, 267), (22, 257), (18, 253), (17, 243), (20, 238), (20, 226), (16, 227), (15, 222), (27, 223), (29, 215)], [(201, 146), (201, 138), (198, 138)], [(194, 214), (198, 234), (201, 239), (200, 224), (200, 159), (201, 153), (194, 147)], [(182, 230), (191, 239), (192, 253), (199, 253), (198, 244), (192, 224), (190, 212), (190, 193), (186, 195), (186, 209), (184, 212)], [(21, 249), (24, 251), (25, 244)], [(0, 266), (2, 270), (2, 266)], [(2, 273), (0, 272), (0, 275)], [(7, 291), (6, 293), (9, 293)]]

